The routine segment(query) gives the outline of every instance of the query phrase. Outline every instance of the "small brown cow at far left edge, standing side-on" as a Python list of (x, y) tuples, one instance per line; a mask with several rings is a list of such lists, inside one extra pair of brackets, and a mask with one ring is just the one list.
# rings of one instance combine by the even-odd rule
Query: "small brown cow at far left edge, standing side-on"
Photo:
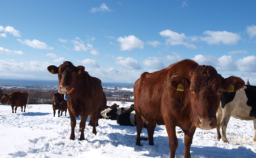
[(0, 101), (0, 104), (10, 103), (12, 107), (12, 113), (14, 113), (13, 108), (15, 107), (15, 113), (17, 111), (17, 107), (21, 107), (21, 112), (23, 112), (23, 106), (24, 106), (24, 112), (26, 109), (27, 104), (27, 97), (28, 93), (25, 91), (19, 92), (14, 91), (11, 94), (4, 94), (2, 96), (2, 99)]

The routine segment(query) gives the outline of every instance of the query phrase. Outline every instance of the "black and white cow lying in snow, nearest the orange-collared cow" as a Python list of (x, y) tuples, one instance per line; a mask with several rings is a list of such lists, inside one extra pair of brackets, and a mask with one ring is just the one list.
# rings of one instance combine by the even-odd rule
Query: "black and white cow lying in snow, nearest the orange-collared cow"
[(101, 115), (99, 116), (100, 119), (111, 119), (116, 120), (117, 116), (125, 110), (128, 110), (132, 107), (114, 107), (114, 108), (106, 108), (105, 110), (101, 111)]

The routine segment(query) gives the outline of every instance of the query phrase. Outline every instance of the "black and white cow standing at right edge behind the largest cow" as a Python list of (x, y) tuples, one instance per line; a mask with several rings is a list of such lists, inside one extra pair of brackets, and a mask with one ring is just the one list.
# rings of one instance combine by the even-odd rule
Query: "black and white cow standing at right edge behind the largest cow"
[(256, 141), (256, 86), (248, 86), (239, 89), (237, 92), (222, 92), (221, 104), (216, 113), (218, 140), (229, 143), (226, 137), (227, 124), (230, 116), (241, 120), (253, 120), (254, 138)]

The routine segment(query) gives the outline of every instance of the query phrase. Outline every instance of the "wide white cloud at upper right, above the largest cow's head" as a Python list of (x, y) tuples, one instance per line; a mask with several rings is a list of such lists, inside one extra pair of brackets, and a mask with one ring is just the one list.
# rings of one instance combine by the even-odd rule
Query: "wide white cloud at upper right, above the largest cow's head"
[(207, 44), (226, 44), (234, 45), (237, 44), (241, 39), (240, 35), (237, 33), (227, 32), (227, 31), (204, 31), (206, 37), (201, 37), (201, 41), (207, 42)]

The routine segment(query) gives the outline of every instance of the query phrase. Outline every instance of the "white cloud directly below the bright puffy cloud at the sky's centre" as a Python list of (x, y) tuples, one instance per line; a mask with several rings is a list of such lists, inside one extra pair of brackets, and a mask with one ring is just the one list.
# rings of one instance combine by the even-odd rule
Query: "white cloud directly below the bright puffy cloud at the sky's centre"
[(137, 60), (133, 59), (132, 57), (117, 57), (115, 60), (116, 64), (119, 66), (122, 66), (126, 69), (132, 69), (132, 70), (139, 70), (141, 69), (139, 63)]

